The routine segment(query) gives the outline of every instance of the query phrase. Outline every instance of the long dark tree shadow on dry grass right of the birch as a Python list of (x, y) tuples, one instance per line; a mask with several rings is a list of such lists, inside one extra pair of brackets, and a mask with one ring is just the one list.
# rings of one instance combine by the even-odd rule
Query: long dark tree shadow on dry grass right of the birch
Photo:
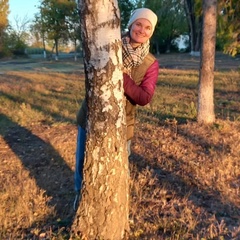
[[(169, 161), (174, 161), (176, 162), (176, 164), (179, 165), (179, 159), (174, 159), (172, 156), (170, 159), (170, 156), (167, 156), (167, 155), (165, 157), (166, 159), (169, 159)], [(176, 196), (182, 199), (187, 197), (188, 201), (192, 202), (196, 207), (196, 209), (199, 209), (199, 208), (205, 209), (204, 216), (202, 216), (203, 218), (201, 219), (201, 217), (199, 217), (198, 223), (195, 229), (191, 230), (192, 234), (195, 234), (195, 235), (198, 233), (200, 234), (200, 232), (202, 232), (202, 228), (207, 229), (210, 226), (209, 224), (211, 224), (211, 221), (213, 221), (214, 219), (216, 219), (219, 224), (221, 223), (222, 220), (224, 220), (224, 222), (226, 223), (226, 227), (230, 231), (233, 228), (239, 227), (237, 216), (239, 216), (240, 214), (240, 209), (235, 205), (226, 204), (222, 202), (221, 193), (216, 189), (214, 188), (206, 189), (204, 187), (201, 188), (199, 187), (199, 185), (195, 184), (194, 182), (189, 184), (181, 176), (175, 174), (174, 171), (163, 170), (161, 168), (161, 165), (153, 164), (151, 159), (147, 159), (141, 155), (138, 155), (135, 152), (132, 152), (132, 155), (130, 157), (130, 164), (136, 167), (139, 173), (146, 170), (146, 168), (151, 169), (151, 171), (153, 172), (152, 177), (153, 178), (157, 177), (159, 183), (161, 184), (162, 187), (164, 186), (165, 189), (166, 189), (166, 186), (168, 186), (169, 189), (167, 189), (168, 195), (166, 198), (167, 202), (171, 200), (174, 201)], [(159, 186), (159, 188), (161, 188), (161, 186)], [(152, 191), (154, 192), (154, 189), (152, 189)], [(144, 206), (145, 208), (149, 207), (147, 202), (144, 205), (144, 200), (141, 200), (141, 203), (139, 204), (143, 205), (143, 206), (139, 206), (139, 208), (144, 208)], [(162, 206), (159, 205), (158, 207), (159, 209), (161, 209)], [(150, 222), (152, 221), (152, 218), (155, 218), (155, 219), (158, 219), (161, 217), (164, 218), (164, 216), (160, 216), (160, 215), (156, 216), (156, 212), (151, 213), (151, 210), (148, 210), (147, 212), (149, 216), (151, 216), (151, 214), (154, 214), (152, 215), (152, 217), (150, 217)], [(159, 210), (159, 212), (161, 211)], [(195, 215), (194, 212), (192, 214)], [(145, 221), (147, 221), (147, 218), (145, 219)], [(158, 224), (158, 223), (156, 222), (155, 224)], [(166, 229), (164, 229), (164, 231), (165, 230)], [(145, 239), (144, 237), (147, 238), (148, 234), (149, 233), (146, 233), (146, 236), (143, 234), (142, 235), (143, 239)], [(155, 232), (155, 234), (158, 237), (159, 236), (163, 237), (159, 239), (165, 239), (171, 236), (170, 233), (162, 232), (161, 229), (158, 229), (157, 232)], [(202, 237), (204, 237), (204, 235)], [(229, 239), (229, 240), (232, 239), (229, 236), (229, 234), (226, 234), (224, 237), (225, 237), (224, 239)]]

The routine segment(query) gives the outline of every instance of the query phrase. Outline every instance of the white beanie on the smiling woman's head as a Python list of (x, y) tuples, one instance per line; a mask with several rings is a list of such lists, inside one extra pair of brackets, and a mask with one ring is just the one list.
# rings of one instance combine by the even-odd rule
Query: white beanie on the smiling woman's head
[(157, 24), (157, 15), (148, 8), (138, 8), (134, 10), (129, 19), (128, 28), (139, 18), (147, 19), (152, 24), (152, 32), (154, 31)]

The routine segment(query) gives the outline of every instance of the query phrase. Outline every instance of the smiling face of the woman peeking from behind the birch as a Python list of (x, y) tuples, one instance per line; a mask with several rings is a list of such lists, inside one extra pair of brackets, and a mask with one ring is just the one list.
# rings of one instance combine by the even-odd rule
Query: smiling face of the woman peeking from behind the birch
[(152, 24), (145, 18), (137, 19), (130, 28), (130, 43), (132, 46), (139, 46), (145, 43), (152, 36)]

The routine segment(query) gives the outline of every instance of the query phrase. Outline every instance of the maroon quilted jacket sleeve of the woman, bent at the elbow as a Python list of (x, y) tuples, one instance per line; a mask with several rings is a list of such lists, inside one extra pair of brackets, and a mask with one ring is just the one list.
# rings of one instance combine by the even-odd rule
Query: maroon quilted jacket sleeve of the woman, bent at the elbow
[(123, 88), (125, 95), (131, 102), (144, 106), (148, 104), (154, 94), (156, 83), (158, 80), (159, 64), (158, 61), (148, 68), (140, 85), (137, 85), (134, 80), (126, 73), (123, 74)]

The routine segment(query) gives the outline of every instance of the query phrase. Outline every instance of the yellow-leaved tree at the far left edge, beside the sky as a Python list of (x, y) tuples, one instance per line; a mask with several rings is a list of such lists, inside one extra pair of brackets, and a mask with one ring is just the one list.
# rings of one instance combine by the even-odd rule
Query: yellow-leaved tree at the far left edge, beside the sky
[(4, 55), (5, 49), (5, 32), (8, 26), (9, 3), (8, 0), (0, 2), (0, 57)]

